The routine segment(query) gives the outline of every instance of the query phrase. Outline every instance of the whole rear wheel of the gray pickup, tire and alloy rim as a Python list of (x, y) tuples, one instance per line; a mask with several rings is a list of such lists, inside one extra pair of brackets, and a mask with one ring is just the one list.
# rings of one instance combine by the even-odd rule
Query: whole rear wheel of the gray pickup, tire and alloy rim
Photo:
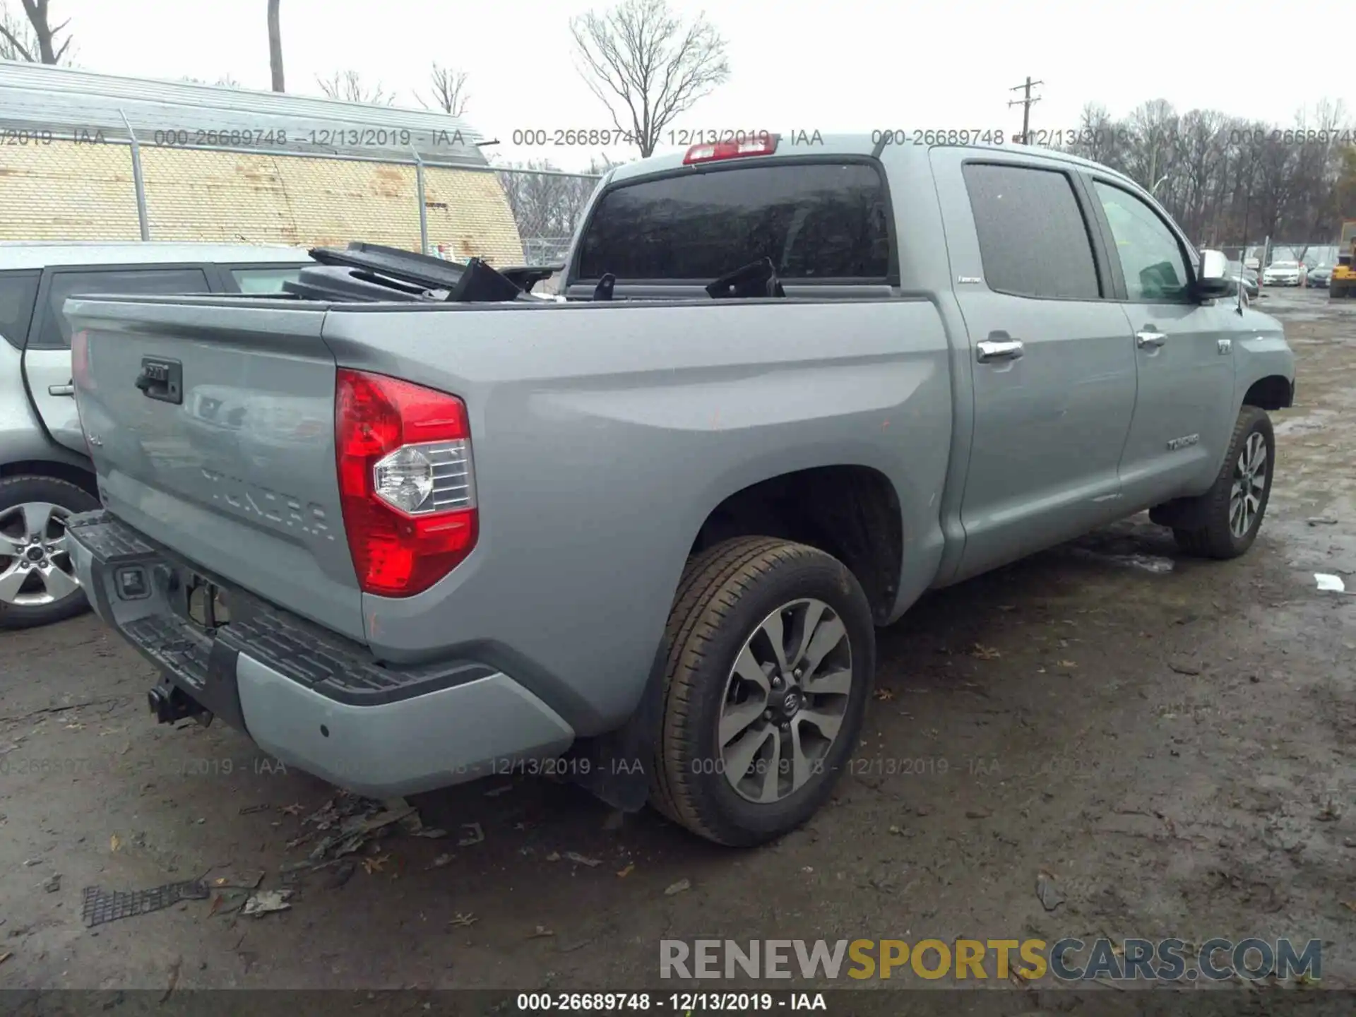
[(804, 823), (857, 743), (875, 636), (857, 578), (822, 551), (740, 537), (694, 556), (669, 617), (656, 808), (731, 846)]

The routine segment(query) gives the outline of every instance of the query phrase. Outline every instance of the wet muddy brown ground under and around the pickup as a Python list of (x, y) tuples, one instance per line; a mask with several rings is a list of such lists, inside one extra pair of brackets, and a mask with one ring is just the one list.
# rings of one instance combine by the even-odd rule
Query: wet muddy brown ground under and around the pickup
[[(1356, 986), (1356, 598), (1314, 580), (1356, 589), (1356, 302), (1261, 306), (1300, 405), (1253, 551), (1177, 557), (1136, 517), (925, 598), (880, 635), (837, 799), (766, 849), (515, 777), (414, 799), (446, 838), (298, 876), (332, 788), (221, 724), (152, 723), (152, 669), (92, 616), (0, 635), (0, 984), (636, 989), (663, 937), (1292, 936)], [(85, 887), (228, 869), (292, 909), (81, 922)]]

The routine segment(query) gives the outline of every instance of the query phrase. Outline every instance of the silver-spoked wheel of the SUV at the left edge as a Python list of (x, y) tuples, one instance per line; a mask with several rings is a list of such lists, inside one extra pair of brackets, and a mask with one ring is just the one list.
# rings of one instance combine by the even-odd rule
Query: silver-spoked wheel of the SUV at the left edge
[(89, 606), (66, 549), (66, 519), (98, 507), (66, 480), (0, 480), (0, 628), (47, 625)]

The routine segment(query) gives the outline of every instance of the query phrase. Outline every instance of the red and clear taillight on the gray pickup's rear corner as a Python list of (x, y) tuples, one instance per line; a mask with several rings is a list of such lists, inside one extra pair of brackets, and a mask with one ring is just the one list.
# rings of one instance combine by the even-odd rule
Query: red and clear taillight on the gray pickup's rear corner
[(339, 370), (335, 457), (348, 551), (365, 593), (411, 597), (471, 553), (476, 487), (460, 399)]

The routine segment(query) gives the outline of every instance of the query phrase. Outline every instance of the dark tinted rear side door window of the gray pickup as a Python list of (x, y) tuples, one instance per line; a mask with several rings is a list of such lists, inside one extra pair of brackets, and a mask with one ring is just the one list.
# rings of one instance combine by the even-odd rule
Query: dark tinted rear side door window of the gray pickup
[(964, 174), (989, 289), (1018, 297), (1101, 297), (1088, 222), (1067, 175), (976, 163)]

